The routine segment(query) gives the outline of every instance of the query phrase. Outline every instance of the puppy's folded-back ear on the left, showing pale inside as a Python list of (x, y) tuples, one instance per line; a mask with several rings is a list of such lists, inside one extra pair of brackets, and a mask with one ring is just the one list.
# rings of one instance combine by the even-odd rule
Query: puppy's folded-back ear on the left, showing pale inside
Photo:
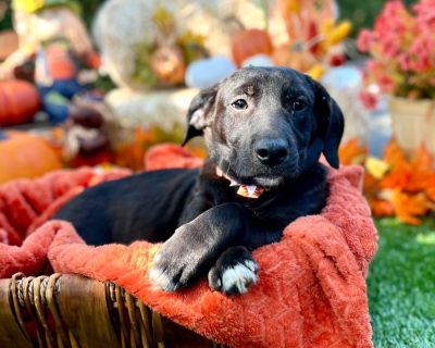
[(219, 85), (202, 89), (191, 100), (186, 115), (187, 130), (182, 144), (183, 146), (185, 146), (191, 138), (202, 135), (203, 128), (210, 124), (214, 112), (217, 89)]

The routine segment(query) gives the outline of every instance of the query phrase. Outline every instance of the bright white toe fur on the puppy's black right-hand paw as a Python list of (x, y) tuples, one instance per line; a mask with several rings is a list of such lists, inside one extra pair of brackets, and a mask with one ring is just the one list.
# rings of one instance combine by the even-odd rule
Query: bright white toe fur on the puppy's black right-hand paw
[(236, 287), (238, 294), (248, 293), (248, 287), (257, 283), (257, 271), (258, 264), (251, 260), (226, 269), (222, 274), (222, 290), (227, 293)]

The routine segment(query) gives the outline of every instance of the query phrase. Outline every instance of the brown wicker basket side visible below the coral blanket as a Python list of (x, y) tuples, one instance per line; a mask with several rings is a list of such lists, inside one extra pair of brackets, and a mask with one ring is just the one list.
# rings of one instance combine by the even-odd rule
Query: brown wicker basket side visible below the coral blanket
[(223, 347), (122, 287), (79, 275), (0, 279), (0, 347)]

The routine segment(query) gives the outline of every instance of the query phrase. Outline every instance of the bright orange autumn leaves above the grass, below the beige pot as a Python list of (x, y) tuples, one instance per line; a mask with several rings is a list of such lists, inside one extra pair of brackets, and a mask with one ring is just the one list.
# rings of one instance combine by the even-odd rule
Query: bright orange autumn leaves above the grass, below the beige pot
[(351, 139), (340, 147), (339, 156), (343, 164), (365, 166), (364, 194), (374, 215), (396, 215), (419, 225), (423, 216), (435, 213), (435, 162), (424, 145), (408, 160), (391, 140), (381, 160)]

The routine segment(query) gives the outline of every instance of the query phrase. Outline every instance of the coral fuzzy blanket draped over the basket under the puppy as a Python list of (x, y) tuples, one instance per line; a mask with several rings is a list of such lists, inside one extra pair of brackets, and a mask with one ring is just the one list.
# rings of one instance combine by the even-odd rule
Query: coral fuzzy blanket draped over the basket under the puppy
[(0, 277), (48, 265), (113, 281), (173, 321), (233, 347), (373, 346), (365, 276), (377, 234), (360, 167), (332, 171), (322, 213), (298, 219), (279, 243), (256, 250), (259, 282), (235, 297), (211, 291), (204, 279), (175, 294), (156, 289), (147, 269), (159, 245), (91, 247), (65, 222), (36, 228), (87, 186), (127, 174), (84, 169), (0, 186)]

